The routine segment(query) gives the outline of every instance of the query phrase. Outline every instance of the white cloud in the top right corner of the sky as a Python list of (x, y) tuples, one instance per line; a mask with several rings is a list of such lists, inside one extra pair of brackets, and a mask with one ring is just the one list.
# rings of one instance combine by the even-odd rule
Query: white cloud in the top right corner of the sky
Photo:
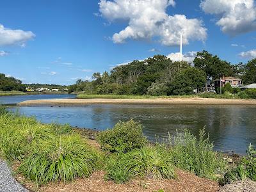
[(200, 7), (218, 17), (216, 24), (223, 33), (234, 36), (256, 30), (254, 0), (202, 0)]

